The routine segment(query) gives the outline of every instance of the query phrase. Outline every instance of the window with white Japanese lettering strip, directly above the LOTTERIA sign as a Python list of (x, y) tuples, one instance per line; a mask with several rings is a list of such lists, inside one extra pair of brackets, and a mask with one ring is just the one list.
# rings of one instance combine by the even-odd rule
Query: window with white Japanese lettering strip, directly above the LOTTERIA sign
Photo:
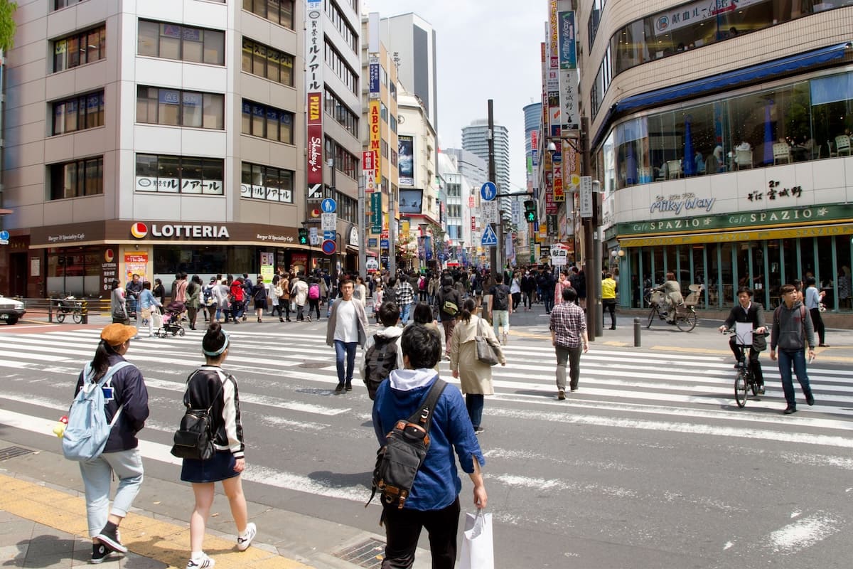
[(136, 154), (136, 191), (223, 195), (223, 160)]

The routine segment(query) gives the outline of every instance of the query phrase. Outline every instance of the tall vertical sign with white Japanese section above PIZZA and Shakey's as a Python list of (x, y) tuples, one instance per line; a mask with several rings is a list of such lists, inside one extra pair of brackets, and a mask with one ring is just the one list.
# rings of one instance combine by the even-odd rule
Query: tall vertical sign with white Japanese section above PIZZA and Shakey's
[(305, 90), (307, 96), (308, 121), (306, 147), (308, 150), (308, 184), (322, 183), (322, 100), (323, 100), (323, 49), (325, 39), (322, 31), (322, 1), (308, 0), (308, 29), (305, 33)]

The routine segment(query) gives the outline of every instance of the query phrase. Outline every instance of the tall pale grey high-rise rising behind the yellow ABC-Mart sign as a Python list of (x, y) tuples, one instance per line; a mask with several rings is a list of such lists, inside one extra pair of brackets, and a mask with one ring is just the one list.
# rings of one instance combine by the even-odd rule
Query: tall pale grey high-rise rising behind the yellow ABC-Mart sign
[(397, 79), (414, 93), (438, 132), (438, 82), (435, 31), (427, 20), (409, 13), (380, 21), (381, 41), (397, 63)]

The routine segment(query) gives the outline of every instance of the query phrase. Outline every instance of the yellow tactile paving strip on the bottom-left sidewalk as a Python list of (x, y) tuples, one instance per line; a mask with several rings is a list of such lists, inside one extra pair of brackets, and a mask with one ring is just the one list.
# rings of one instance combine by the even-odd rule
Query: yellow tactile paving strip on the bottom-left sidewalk
[[(0, 474), (0, 509), (75, 537), (89, 537), (82, 497)], [(189, 524), (176, 525), (131, 513), (122, 521), (121, 539), (133, 553), (170, 567), (183, 567), (187, 562)], [(204, 548), (221, 569), (310, 569), (264, 549), (237, 551), (234, 540), (222, 537), (207, 536)]]

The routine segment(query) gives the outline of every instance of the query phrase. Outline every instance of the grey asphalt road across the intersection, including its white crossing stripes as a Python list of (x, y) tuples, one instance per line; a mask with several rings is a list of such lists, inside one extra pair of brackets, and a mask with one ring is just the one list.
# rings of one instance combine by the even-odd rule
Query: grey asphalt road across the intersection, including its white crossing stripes
[[(788, 416), (769, 360), (767, 395), (735, 406), (717, 322), (689, 334), (643, 328), (640, 348), (630, 322), (620, 318), (595, 341), (580, 390), (557, 401), (547, 319), (514, 316), (509, 363), (496, 368), (480, 435), (496, 566), (849, 567), (853, 334), (827, 335), (833, 348), (809, 374), (817, 403), (800, 396), (800, 411)], [(0, 328), (0, 437), (55, 452), (49, 427), (67, 409), (98, 328)], [(231, 329), (225, 367), (240, 384), (247, 497), (381, 532), (379, 508), (363, 508), (377, 446), (370, 401), (358, 380), (355, 391), (334, 394), (325, 321)], [(178, 478), (168, 448), (201, 334), (131, 345), (151, 398), (142, 432), (148, 479)], [(187, 519), (186, 493), (174, 511), (159, 508)], [(467, 477), (461, 502), (473, 511)]]

